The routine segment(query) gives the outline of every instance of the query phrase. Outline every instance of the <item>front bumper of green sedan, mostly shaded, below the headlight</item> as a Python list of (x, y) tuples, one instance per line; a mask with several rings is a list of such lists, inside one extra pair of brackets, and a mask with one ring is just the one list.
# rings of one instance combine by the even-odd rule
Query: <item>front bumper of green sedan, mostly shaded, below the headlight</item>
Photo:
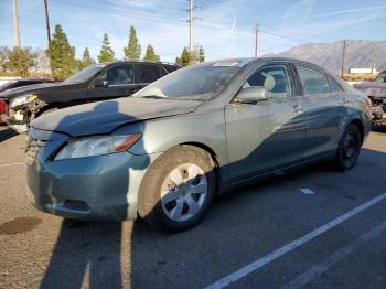
[[(66, 218), (124, 221), (137, 217), (140, 181), (158, 156), (129, 152), (51, 161), (68, 137), (32, 129), (28, 149), (28, 197), (40, 211)], [(30, 140), (31, 141), (31, 140)], [(30, 142), (30, 143), (32, 143)]]

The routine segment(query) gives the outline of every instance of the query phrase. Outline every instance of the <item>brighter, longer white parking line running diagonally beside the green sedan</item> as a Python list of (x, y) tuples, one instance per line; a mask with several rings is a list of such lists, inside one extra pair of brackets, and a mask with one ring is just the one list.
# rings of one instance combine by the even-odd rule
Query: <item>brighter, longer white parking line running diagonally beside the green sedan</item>
[(374, 205), (374, 204), (376, 204), (385, 199), (386, 199), (386, 193), (383, 193), (383, 194), (369, 200), (368, 202), (366, 202), (366, 203), (355, 207), (354, 210), (332, 220), (331, 222), (329, 222), (325, 225), (305, 234), (304, 236), (288, 243), (287, 245), (282, 246), (281, 248), (278, 248), (278, 249), (269, 253), (268, 255), (246, 265), (245, 267), (243, 267), (234, 272), (230, 272), (229, 275), (227, 275), (227, 276), (221, 278), (219, 280), (215, 281), (214, 283), (207, 286), (206, 289), (221, 289), (221, 288), (227, 287), (229, 283), (235, 282), (235, 281), (244, 278), (245, 276), (258, 270), (259, 268), (266, 266), (267, 264), (269, 264), (269, 263), (280, 258), (285, 254), (302, 246), (303, 244), (312, 240), (313, 238), (328, 232), (329, 229), (336, 227), (337, 225), (342, 224), (344, 221), (353, 217), (354, 215), (361, 213), (362, 211), (371, 207), (372, 205)]

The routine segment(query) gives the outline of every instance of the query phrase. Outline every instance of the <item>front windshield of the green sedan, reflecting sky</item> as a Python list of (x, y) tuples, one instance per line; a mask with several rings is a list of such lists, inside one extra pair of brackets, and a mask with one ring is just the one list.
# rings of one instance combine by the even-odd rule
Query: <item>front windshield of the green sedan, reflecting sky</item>
[(239, 64), (217, 62), (183, 68), (150, 84), (135, 97), (208, 99), (240, 69)]

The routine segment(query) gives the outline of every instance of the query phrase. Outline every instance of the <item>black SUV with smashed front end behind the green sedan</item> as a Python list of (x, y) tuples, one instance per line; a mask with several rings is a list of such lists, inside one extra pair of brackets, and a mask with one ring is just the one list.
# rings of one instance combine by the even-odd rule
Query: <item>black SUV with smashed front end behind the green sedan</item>
[(9, 103), (3, 119), (18, 132), (25, 132), (30, 121), (44, 113), (130, 96), (179, 68), (173, 64), (144, 61), (94, 64), (62, 83), (31, 85), (1, 93), (0, 98)]

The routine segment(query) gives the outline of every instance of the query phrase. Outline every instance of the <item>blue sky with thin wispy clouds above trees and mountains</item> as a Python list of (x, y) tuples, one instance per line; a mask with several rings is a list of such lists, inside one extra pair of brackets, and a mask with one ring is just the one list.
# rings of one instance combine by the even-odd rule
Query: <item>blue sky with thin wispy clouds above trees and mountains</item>
[[(385, 40), (385, 0), (194, 0), (195, 45), (206, 60), (258, 54), (342, 39)], [(189, 0), (49, 0), (51, 30), (61, 24), (77, 57), (87, 46), (96, 58), (108, 33), (116, 58), (124, 57), (130, 25), (142, 46), (174, 62), (189, 46)], [(22, 46), (47, 45), (43, 0), (18, 0)], [(12, 0), (0, 0), (0, 46), (13, 46)]]

